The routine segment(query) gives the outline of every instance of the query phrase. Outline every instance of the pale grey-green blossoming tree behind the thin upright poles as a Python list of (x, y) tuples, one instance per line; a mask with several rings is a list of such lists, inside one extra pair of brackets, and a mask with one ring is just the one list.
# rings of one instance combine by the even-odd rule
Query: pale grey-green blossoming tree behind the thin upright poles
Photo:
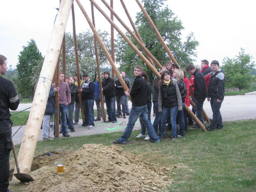
[[(109, 34), (104, 31), (98, 31), (101, 40), (107, 47), (109, 53), (111, 53), (111, 42), (109, 39)], [(74, 37), (72, 33), (66, 33), (66, 63), (67, 63), (67, 75), (74, 75), (76, 73), (76, 59), (75, 59), (75, 48), (74, 48)], [(81, 74), (89, 73), (92, 81), (96, 80), (97, 67), (96, 67), (96, 57), (94, 51), (94, 34), (91, 30), (84, 31), (77, 34), (77, 51), (79, 57), (79, 65)], [(98, 55), (100, 66), (109, 66), (108, 59), (104, 54), (103, 50), (98, 44)], [(62, 62), (61, 67), (62, 69)]]

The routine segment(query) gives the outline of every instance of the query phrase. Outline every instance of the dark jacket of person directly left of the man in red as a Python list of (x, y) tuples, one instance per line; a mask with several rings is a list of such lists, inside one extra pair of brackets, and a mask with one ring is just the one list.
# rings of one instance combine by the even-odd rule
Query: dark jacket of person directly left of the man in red
[(203, 100), (207, 97), (207, 88), (205, 84), (205, 77), (203, 74), (198, 70), (195, 69), (194, 72), (194, 95), (195, 99)]

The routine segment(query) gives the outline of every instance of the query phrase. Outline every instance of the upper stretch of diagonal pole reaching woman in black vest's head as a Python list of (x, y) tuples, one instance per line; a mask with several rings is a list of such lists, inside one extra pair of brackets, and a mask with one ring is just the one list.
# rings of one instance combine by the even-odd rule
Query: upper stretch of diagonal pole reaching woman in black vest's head
[[(79, 0), (77, 0), (77, 3)], [(101, 10), (100, 7), (94, 2), (94, 0), (91, 0), (91, 2), (94, 4), (94, 6)], [(144, 63), (148, 66), (148, 68), (160, 79), (160, 74), (155, 69), (155, 67), (152, 66), (152, 64), (148, 61), (148, 59), (138, 50), (138, 48), (131, 42), (131, 40), (116, 26), (116, 24), (104, 13), (103, 10), (101, 10), (101, 13), (104, 15), (104, 17), (108, 18), (108, 22), (110, 22), (114, 27), (115, 30), (118, 31), (118, 33), (128, 42), (128, 44), (131, 46), (131, 48), (138, 54), (139, 57), (144, 61)], [(136, 36), (135, 36), (136, 37)], [(137, 37), (136, 37), (137, 38)], [(137, 38), (138, 39), (138, 38)], [(140, 42), (140, 41), (139, 41)], [(141, 42), (140, 42), (141, 43)], [(120, 80), (119, 80), (120, 81)], [(121, 82), (121, 81), (120, 81)]]

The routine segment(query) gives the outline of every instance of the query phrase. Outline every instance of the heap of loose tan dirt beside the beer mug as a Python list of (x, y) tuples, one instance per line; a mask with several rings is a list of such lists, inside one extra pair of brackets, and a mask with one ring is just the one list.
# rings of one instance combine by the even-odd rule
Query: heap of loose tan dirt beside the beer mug
[(56, 173), (52, 165), (42, 167), (37, 172), (40, 178), (30, 182), (26, 191), (151, 192), (164, 191), (170, 183), (167, 174), (171, 168), (144, 162), (115, 145), (83, 145), (64, 159), (64, 173)]

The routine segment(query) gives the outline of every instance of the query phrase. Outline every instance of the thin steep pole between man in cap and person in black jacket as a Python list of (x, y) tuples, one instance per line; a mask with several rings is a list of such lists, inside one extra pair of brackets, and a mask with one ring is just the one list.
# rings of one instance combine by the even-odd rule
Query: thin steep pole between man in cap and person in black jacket
[[(93, 23), (93, 25), (95, 27), (94, 9), (93, 9), (93, 4), (92, 3), (91, 3), (91, 16), (92, 16), (92, 23)], [(103, 122), (106, 122), (106, 113), (105, 113), (105, 108), (104, 108), (104, 99), (103, 99), (103, 93), (101, 91), (102, 84), (101, 84), (100, 62), (99, 62), (99, 55), (98, 55), (97, 39), (96, 39), (95, 35), (94, 35), (94, 50), (95, 50), (96, 64), (97, 64), (98, 83), (99, 83), (99, 87), (100, 87), (102, 119), (103, 119)]]

